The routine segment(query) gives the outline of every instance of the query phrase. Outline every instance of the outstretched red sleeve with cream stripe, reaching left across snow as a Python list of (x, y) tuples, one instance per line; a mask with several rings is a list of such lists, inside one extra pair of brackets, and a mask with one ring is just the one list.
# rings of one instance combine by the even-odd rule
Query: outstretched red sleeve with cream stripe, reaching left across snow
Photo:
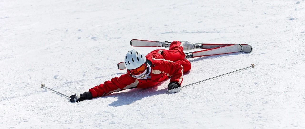
[(108, 95), (113, 92), (130, 89), (131, 87), (136, 87), (138, 83), (138, 80), (131, 77), (129, 73), (126, 73), (120, 77), (114, 77), (110, 81), (105, 81), (104, 83), (89, 89), (89, 92), (91, 92), (92, 97), (95, 98)]

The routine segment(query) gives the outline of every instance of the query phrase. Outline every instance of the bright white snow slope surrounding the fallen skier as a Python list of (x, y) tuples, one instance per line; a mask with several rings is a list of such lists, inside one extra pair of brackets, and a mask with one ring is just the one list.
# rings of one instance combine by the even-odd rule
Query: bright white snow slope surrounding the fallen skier
[[(0, 128), (305, 128), (305, 1), (0, 0)], [(190, 59), (169, 80), (70, 103), (103, 83), (131, 39), (245, 43), (252, 53)]]

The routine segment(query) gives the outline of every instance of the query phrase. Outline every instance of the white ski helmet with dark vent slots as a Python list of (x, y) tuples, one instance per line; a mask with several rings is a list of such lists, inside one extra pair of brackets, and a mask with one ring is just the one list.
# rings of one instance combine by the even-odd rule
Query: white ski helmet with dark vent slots
[(146, 58), (143, 53), (131, 50), (126, 54), (124, 64), (127, 70), (133, 70), (140, 67), (145, 62)]

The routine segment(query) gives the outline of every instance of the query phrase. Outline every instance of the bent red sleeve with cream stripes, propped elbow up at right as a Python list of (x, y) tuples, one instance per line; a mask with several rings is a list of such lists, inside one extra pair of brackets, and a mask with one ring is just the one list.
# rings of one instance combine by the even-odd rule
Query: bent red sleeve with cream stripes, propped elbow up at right
[(167, 76), (171, 76), (170, 82), (177, 82), (181, 85), (183, 80), (183, 66), (166, 59), (154, 59), (155, 67), (152, 67), (152, 73), (165, 73)]

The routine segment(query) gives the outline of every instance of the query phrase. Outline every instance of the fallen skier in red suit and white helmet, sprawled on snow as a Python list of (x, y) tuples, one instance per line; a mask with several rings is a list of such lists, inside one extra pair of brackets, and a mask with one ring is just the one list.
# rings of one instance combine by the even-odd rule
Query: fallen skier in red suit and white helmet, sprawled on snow
[[(181, 87), (183, 73), (191, 70), (184, 50), (196, 49), (195, 43), (174, 41), (170, 49), (156, 49), (146, 56), (136, 50), (129, 51), (124, 59), (127, 73), (114, 77), (82, 94), (70, 96), (70, 101), (80, 102), (125, 89), (147, 88), (170, 78), (168, 90)], [(77, 99), (76, 99), (77, 98)]]

